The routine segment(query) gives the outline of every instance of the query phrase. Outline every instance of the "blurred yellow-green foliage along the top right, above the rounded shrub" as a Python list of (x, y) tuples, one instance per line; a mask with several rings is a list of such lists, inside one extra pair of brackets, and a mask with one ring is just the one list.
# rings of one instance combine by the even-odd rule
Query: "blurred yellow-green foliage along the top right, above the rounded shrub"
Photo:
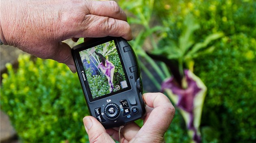
[(197, 41), (215, 32), (226, 36), (246, 33), (256, 37), (255, 0), (165, 0), (156, 1), (155, 15), (171, 30), (167, 36), (176, 40), (182, 31), (186, 15), (192, 14), (200, 24), (194, 38)]

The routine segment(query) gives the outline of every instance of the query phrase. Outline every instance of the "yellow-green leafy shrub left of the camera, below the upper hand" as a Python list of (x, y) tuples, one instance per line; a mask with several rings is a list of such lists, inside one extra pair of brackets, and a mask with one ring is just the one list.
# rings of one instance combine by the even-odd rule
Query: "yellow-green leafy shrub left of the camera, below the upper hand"
[(7, 64), (1, 109), (24, 143), (87, 142), (82, 118), (89, 114), (77, 74), (52, 60), (20, 56), (17, 71)]

